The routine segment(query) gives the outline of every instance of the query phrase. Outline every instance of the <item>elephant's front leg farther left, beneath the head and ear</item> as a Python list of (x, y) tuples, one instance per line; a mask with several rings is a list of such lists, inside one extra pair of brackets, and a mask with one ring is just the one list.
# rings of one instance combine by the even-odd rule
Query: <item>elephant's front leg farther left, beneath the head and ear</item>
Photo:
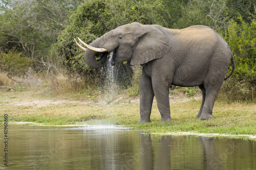
[(138, 124), (150, 123), (150, 115), (154, 99), (151, 78), (142, 70), (139, 84), (140, 90), (140, 121)]

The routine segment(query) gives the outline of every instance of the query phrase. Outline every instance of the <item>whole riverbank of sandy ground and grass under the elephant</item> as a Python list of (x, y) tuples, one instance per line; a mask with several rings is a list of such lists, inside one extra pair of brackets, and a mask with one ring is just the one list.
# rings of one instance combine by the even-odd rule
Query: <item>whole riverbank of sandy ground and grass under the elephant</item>
[[(256, 135), (256, 106), (250, 103), (227, 103), (217, 100), (214, 119), (195, 119), (201, 106), (201, 96), (170, 96), (172, 122), (160, 122), (153, 104), (151, 123), (137, 125), (139, 100), (117, 95), (111, 102), (98, 99), (67, 100), (45, 95), (44, 90), (1, 91), (0, 112), (8, 114), (10, 122), (35, 122), (44, 125), (122, 125), (145, 133), (157, 134), (221, 134)], [(4, 117), (0, 118), (0, 122)]]

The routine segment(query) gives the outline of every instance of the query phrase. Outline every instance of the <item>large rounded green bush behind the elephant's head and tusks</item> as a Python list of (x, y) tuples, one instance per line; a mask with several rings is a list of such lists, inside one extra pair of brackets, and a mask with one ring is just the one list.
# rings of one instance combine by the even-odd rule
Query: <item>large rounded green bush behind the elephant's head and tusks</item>
[[(83, 59), (83, 52), (74, 43), (79, 37), (90, 43), (104, 33), (118, 26), (131, 22), (143, 24), (159, 23), (156, 9), (161, 7), (161, 1), (117, 1), (96, 0), (86, 1), (73, 12), (70, 23), (59, 35), (54, 48), (62, 65), (70, 72), (88, 75), (92, 71)], [(92, 75), (93, 76), (93, 75)]]

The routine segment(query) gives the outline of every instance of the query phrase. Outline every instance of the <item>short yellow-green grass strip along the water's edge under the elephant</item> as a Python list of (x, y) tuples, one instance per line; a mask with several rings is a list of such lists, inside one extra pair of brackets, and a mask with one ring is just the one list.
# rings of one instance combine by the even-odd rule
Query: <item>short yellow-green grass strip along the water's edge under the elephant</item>
[[(157, 105), (152, 108), (151, 123), (137, 125), (139, 104), (123, 102), (114, 105), (59, 104), (44, 107), (0, 104), (1, 115), (9, 121), (35, 122), (45, 125), (113, 124), (131, 127), (148, 133), (219, 133), (256, 135), (256, 106), (247, 103), (216, 101), (214, 119), (195, 119), (201, 100), (170, 104), (172, 122), (160, 122)], [(0, 117), (0, 122), (4, 117)]]

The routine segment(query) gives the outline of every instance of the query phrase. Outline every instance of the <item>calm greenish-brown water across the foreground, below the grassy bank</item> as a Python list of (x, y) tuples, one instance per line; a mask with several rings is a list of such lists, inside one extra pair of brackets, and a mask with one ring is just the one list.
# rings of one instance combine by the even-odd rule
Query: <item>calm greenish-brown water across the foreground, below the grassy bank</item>
[(256, 169), (252, 140), (150, 135), (113, 125), (9, 124), (8, 134), (9, 169)]

